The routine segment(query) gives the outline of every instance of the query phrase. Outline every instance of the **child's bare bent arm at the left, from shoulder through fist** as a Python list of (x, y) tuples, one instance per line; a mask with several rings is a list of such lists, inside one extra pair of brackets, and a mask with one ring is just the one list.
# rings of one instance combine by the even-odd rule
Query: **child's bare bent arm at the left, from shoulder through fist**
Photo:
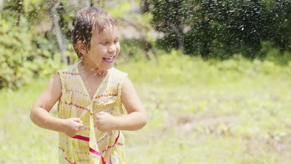
[(64, 120), (49, 114), (51, 108), (60, 99), (61, 95), (62, 83), (60, 75), (56, 74), (33, 105), (30, 118), (39, 127), (64, 132), (67, 135), (73, 136), (83, 126), (79, 118)]

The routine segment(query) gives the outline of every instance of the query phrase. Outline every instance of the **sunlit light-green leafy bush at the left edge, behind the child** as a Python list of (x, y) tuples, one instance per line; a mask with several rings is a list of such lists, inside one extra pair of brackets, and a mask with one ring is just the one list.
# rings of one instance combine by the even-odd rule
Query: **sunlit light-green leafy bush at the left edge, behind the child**
[(33, 39), (28, 28), (2, 21), (0, 35), (0, 88), (16, 89), (35, 77), (50, 76), (61, 66), (60, 54), (53, 47), (40, 47), (49, 44), (43, 37)]

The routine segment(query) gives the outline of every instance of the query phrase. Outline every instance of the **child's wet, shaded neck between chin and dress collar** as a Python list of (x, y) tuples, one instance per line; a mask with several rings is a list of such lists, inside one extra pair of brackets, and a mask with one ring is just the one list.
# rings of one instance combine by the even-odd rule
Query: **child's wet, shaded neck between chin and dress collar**
[(80, 72), (85, 72), (87, 74), (87, 76), (90, 76), (91, 78), (97, 78), (100, 76), (104, 76), (108, 72), (107, 70), (102, 70), (100, 68), (97, 68), (96, 66), (94, 66), (90, 62), (86, 62), (84, 60), (82, 60), (78, 64), (78, 67), (79, 67)]

